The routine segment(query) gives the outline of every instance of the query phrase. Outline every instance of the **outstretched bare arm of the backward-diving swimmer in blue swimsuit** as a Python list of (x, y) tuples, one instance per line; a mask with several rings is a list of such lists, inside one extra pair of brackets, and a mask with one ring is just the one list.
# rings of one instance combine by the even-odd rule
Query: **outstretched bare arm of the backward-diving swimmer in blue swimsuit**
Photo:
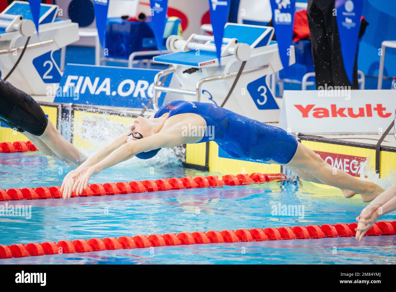
[[(95, 154), (95, 158), (87, 159), (78, 169), (73, 171), (71, 180), (66, 181), (65, 178), (61, 189), (63, 191), (63, 199), (70, 198), (73, 191), (76, 191), (77, 196), (81, 194), (94, 173), (128, 160), (141, 152), (179, 146), (188, 142), (188, 139), (188, 137), (181, 136), (180, 131), (167, 130), (128, 143), (124, 142), (121, 144), (122, 141), (118, 141), (121, 145), (109, 155), (106, 156), (109, 150), (103, 150), (103, 152), (100, 150), (99, 152), (101, 153)], [(114, 148), (114, 145), (112, 145), (112, 148)], [(93, 164), (93, 162), (95, 163)]]

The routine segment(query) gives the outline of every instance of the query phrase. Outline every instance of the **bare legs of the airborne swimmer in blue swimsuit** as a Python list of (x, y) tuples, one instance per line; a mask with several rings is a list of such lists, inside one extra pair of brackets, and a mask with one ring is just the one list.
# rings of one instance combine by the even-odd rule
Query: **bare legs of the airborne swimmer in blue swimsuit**
[(301, 143), (298, 143), (296, 153), (285, 166), (303, 169), (321, 183), (343, 189), (347, 198), (359, 193), (363, 202), (370, 202), (384, 191), (379, 185), (356, 179), (341, 169), (333, 171), (330, 164)]

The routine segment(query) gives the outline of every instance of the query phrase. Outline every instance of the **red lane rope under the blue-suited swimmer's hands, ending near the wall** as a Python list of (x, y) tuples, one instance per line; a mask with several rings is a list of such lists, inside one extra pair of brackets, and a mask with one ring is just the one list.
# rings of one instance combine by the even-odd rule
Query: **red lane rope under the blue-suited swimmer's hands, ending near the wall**
[[(17, 143), (17, 142), (15, 142)], [(4, 143), (2, 143), (4, 144)], [(283, 173), (252, 173), (251, 175), (239, 174), (223, 175), (219, 179), (217, 175), (210, 175), (208, 177), (182, 177), (171, 179), (157, 179), (156, 181), (131, 181), (120, 183), (105, 183), (105, 184), (91, 184), (83, 191), (79, 197), (91, 196), (116, 196), (123, 194), (133, 194), (142, 192), (157, 192), (163, 190), (181, 190), (184, 188), (209, 188), (239, 186), (253, 183), (265, 183), (268, 181), (286, 179)], [(72, 198), (77, 197), (75, 192), (71, 195)], [(9, 190), (0, 189), (0, 202), (3, 201), (17, 201), (17, 200), (36, 200), (36, 199), (59, 199), (62, 198), (61, 187), (51, 186), (34, 188), (11, 188)]]

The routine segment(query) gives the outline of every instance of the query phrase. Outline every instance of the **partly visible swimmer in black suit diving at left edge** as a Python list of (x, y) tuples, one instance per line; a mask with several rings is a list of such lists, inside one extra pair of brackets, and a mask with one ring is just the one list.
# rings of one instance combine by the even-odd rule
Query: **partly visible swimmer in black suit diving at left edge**
[(0, 79), (0, 122), (23, 133), (45, 155), (80, 165), (86, 157), (58, 132), (27, 93)]

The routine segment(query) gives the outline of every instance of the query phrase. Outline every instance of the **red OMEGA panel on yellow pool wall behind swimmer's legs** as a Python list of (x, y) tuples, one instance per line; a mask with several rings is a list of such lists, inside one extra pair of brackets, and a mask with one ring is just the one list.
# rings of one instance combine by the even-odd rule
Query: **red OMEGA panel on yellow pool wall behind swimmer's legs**
[(337, 167), (346, 173), (354, 177), (360, 177), (358, 174), (360, 169), (360, 163), (366, 161), (366, 157), (360, 156), (352, 156), (352, 155), (345, 155), (345, 154), (337, 154), (337, 153), (330, 153), (330, 152), (320, 152), (315, 151), (324, 161), (329, 163), (333, 167)]

